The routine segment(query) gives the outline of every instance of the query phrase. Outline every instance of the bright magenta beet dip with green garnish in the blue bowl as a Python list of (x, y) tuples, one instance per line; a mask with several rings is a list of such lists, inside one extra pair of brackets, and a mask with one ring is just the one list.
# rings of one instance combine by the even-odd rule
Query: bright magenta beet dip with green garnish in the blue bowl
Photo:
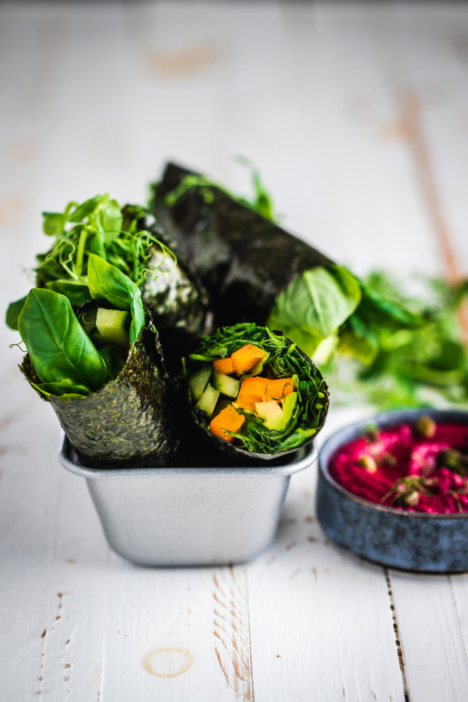
[(414, 424), (378, 430), (340, 446), (330, 475), (370, 502), (410, 512), (468, 512), (468, 425)]

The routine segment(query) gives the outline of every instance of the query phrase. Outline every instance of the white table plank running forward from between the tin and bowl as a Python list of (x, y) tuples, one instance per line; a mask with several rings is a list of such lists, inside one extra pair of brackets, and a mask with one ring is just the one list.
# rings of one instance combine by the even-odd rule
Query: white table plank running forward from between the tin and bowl
[[(351, 416), (333, 413), (325, 437)], [(293, 476), (279, 534), (248, 571), (255, 698), (403, 701), (385, 574), (328, 541), (315, 489), (315, 467)]]

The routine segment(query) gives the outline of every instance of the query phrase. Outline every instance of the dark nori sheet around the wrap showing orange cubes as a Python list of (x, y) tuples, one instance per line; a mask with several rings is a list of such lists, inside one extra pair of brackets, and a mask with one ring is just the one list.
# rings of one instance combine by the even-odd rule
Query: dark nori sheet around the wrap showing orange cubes
[[(288, 345), (293, 344), (293, 342), (286, 336), (284, 339), (288, 342)], [(255, 341), (253, 341), (253, 343), (255, 343)], [(225, 439), (212, 434), (208, 428), (210, 420), (207, 419), (206, 413), (196, 409), (190, 399), (188, 388), (185, 388), (185, 410), (187, 413), (187, 416), (184, 417), (184, 423), (186, 425), (185, 441), (192, 446), (193, 449), (191, 453), (192, 463), (187, 462), (187, 459), (190, 461), (189, 456), (187, 456), (187, 465), (229, 465), (248, 467), (253, 465), (262, 465), (262, 463), (265, 461), (267, 461), (269, 465), (283, 465), (290, 463), (290, 461), (298, 460), (299, 456), (307, 451), (307, 446), (314, 442), (325, 424), (330, 395), (326, 381), (323, 379), (321, 372), (314, 364), (312, 359), (310, 359), (309, 356), (307, 356), (307, 354), (305, 354), (305, 352), (303, 352), (299, 347), (295, 346), (295, 350), (311, 367), (312, 374), (319, 383), (320, 390), (324, 395), (323, 399), (321, 399), (321, 402), (323, 402), (323, 409), (321, 409), (319, 415), (319, 425), (316, 433), (307, 439), (307, 441), (305, 441), (301, 446), (288, 449), (286, 451), (279, 451), (276, 453), (248, 451), (242, 446), (239, 446), (239, 444), (227, 442)], [(196, 349), (194, 349), (194, 352), (196, 352)], [(190, 369), (189, 359), (187, 359), (187, 367)], [(200, 367), (200, 362), (196, 363), (192, 370), (195, 370), (196, 367)], [(189, 416), (191, 417), (191, 420), (188, 418)]]

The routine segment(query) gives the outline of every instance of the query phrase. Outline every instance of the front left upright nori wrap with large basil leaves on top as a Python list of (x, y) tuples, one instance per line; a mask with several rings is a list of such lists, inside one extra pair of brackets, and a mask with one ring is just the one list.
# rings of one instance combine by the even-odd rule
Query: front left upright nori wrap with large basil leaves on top
[(29, 292), (20, 369), (85, 465), (168, 465), (178, 449), (173, 393), (141, 293), (94, 255), (88, 285), (93, 301), (77, 309), (56, 291)]

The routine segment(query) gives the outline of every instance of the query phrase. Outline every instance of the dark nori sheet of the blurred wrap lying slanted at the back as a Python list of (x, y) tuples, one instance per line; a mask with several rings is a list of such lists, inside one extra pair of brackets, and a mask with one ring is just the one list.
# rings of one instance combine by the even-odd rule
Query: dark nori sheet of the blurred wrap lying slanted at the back
[(150, 208), (208, 290), (216, 326), (243, 320), (265, 324), (276, 296), (298, 274), (333, 265), (214, 185), (191, 187), (168, 206), (166, 194), (191, 173), (168, 164)]

